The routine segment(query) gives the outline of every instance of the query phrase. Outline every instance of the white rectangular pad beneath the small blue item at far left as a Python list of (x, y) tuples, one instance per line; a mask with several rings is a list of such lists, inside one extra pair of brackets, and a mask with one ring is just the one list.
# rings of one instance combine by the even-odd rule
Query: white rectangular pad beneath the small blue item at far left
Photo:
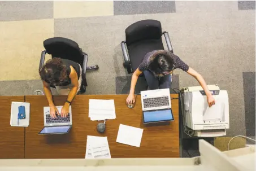
[[(18, 120), (19, 106), (25, 106), (25, 119)], [(12, 102), (10, 125), (11, 126), (28, 126), (29, 125), (29, 109), (30, 109), (29, 103)]]

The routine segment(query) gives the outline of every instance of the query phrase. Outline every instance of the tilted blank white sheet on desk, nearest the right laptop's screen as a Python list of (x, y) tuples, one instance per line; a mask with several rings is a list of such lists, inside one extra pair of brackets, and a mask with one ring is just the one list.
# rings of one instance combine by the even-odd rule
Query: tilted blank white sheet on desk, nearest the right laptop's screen
[(140, 147), (143, 129), (120, 124), (116, 142)]

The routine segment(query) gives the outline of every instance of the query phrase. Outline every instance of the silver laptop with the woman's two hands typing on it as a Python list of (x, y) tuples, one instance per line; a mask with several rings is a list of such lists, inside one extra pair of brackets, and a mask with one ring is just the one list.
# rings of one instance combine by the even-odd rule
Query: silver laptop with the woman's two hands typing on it
[[(57, 106), (60, 113), (62, 106)], [(67, 117), (57, 115), (57, 119), (50, 116), (50, 107), (44, 107), (44, 128), (39, 134), (67, 134), (72, 127), (72, 111), (71, 106)]]

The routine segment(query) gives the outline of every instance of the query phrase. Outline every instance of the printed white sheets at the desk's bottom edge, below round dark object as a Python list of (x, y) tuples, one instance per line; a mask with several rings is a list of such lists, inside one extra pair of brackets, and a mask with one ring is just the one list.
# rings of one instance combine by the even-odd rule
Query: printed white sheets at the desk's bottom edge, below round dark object
[(107, 137), (87, 135), (85, 159), (111, 159)]

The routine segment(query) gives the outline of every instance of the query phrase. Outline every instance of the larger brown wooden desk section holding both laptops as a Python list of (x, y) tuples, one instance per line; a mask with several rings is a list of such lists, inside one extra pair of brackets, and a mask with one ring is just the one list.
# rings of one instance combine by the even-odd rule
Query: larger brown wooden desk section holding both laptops
[[(171, 97), (178, 97), (172, 94)], [(48, 106), (45, 96), (26, 96), (31, 103), (31, 124), (25, 128), (25, 158), (84, 158), (87, 135), (107, 137), (111, 157), (179, 157), (179, 107), (178, 100), (172, 100), (175, 121), (170, 125), (145, 126), (142, 124), (141, 98), (136, 106), (127, 108), (127, 95), (77, 95), (72, 102), (72, 129), (63, 135), (38, 135), (44, 127), (43, 107)], [(107, 120), (107, 130), (97, 132), (97, 121), (88, 117), (89, 99), (114, 99), (116, 119)], [(66, 96), (54, 97), (56, 106), (63, 106)], [(119, 124), (143, 128), (140, 148), (117, 143)]]

